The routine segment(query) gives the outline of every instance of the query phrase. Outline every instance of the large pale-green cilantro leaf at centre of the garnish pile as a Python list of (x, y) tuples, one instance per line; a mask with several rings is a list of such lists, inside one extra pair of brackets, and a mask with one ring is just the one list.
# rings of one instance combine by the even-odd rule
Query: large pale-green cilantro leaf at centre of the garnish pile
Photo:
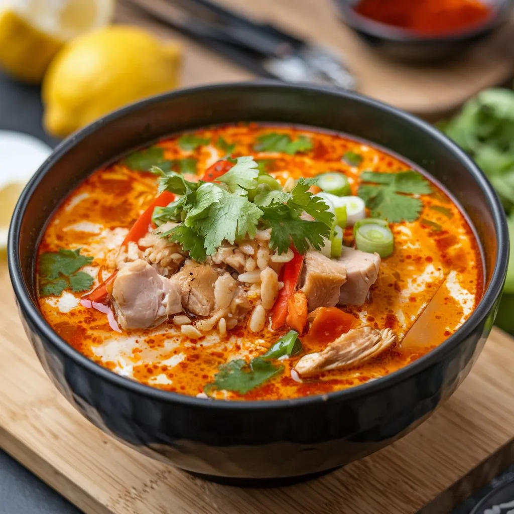
[(246, 234), (253, 237), (263, 214), (245, 196), (218, 189), (221, 191), (219, 201), (210, 206), (207, 217), (196, 223), (199, 234), (205, 237), (204, 246), (209, 255), (215, 253), (225, 240), (232, 244), (236, 238), (243, 238)]

